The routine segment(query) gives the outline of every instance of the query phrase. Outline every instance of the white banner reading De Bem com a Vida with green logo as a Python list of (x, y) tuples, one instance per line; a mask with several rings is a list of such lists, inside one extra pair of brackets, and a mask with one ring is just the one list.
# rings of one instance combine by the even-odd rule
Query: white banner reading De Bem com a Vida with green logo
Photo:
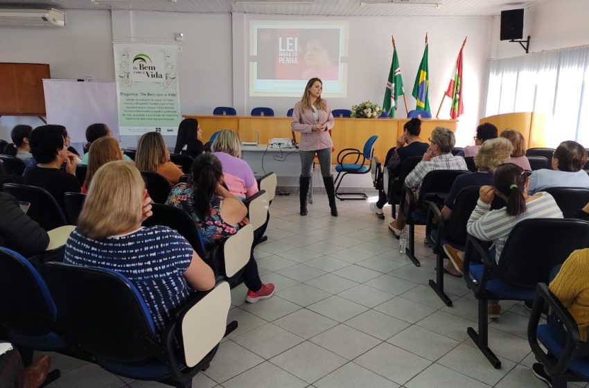
[(119, 134), (177, 134), (182, 118), (177, 44), (113, 46)]

